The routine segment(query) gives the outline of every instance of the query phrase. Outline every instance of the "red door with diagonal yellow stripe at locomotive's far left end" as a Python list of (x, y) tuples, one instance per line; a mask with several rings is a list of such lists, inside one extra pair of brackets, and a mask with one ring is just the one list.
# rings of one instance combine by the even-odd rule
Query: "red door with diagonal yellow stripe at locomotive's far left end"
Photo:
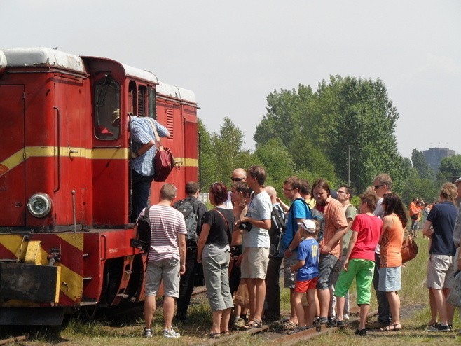
[(0, 85), (0, 225), (25, 226), (24, 85)]

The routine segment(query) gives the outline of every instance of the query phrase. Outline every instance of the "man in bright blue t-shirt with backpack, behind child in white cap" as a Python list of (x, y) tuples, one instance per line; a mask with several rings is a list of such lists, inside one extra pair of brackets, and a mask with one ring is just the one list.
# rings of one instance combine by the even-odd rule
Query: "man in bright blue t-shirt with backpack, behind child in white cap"
[(305, 219), (311, 218), (310, 207), (301, 196), (301, 188), (303, 182), (298, 177), (288, 177), (283, 183), (283, 193), (285, 198), (291, 200), (291, 207), (288, 210), (288, 214), (285, 217), (285, 224), (287, 229), (282, 238), (282, 254), (284, 254), (283, 265), (284, 265), (284, 288), (290, 289), (290, 319), (285, 322), (284, 329), (291, 329), (296, 327), (298, 324), (298, 317), (296, 317), (296, 310), (294, 307), (293, 300), (291, 297), (294, 295), (295, 285), (295, 273), (291, 272), (289, 268), (291, 265), (295, 265), (298, 261), (296, 253), (298, 248), (291, 249), (289, 244), (293, 240), (296, 232), (298, 232), (298, 224)]

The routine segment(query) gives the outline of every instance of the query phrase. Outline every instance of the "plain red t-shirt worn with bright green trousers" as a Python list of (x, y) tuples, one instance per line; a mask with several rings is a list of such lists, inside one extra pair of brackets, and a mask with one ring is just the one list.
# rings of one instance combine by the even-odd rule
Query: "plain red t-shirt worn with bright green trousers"
[(375, 248), (383, 230), (383, 221), (378, 216), (359, 214), (355, 216), (351, 230), (358, 234), (349, 259), (366, 259), (374, 262)]

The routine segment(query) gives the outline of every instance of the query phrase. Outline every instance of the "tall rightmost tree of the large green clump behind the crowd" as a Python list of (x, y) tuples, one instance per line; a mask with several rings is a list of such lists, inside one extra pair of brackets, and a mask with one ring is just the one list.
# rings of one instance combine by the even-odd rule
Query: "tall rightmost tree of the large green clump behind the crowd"
[(379, 173), (400, 178), (403, 158), (394, 135), (399, 114), (387, 97), (384, 83), (347, 77), (341, 81), (338, 93), (338, 115), (329, 146), (338, 177), (343, 181), (348, 178), (350, 148), (351, 185), (356, 191), (364, 191)]

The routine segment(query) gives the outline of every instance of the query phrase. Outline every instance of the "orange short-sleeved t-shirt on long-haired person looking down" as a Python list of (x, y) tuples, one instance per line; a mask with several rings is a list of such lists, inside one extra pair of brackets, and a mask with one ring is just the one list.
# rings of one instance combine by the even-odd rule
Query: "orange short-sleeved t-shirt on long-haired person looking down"
[[(333, 235), (335, 235), (336, 230), (342, 227), (348, 227), (348, 220), (345, 217), (343, 205), (338, 201), (328, 196), (325, 201), (325, 233), (324, 233), (324, 240), (323, 243), (327, 244)], [(341, 254), (341, 239), (338, 240), (333, 247), (331, 247), (331, 251), (329, 254), (340, 258)]]

